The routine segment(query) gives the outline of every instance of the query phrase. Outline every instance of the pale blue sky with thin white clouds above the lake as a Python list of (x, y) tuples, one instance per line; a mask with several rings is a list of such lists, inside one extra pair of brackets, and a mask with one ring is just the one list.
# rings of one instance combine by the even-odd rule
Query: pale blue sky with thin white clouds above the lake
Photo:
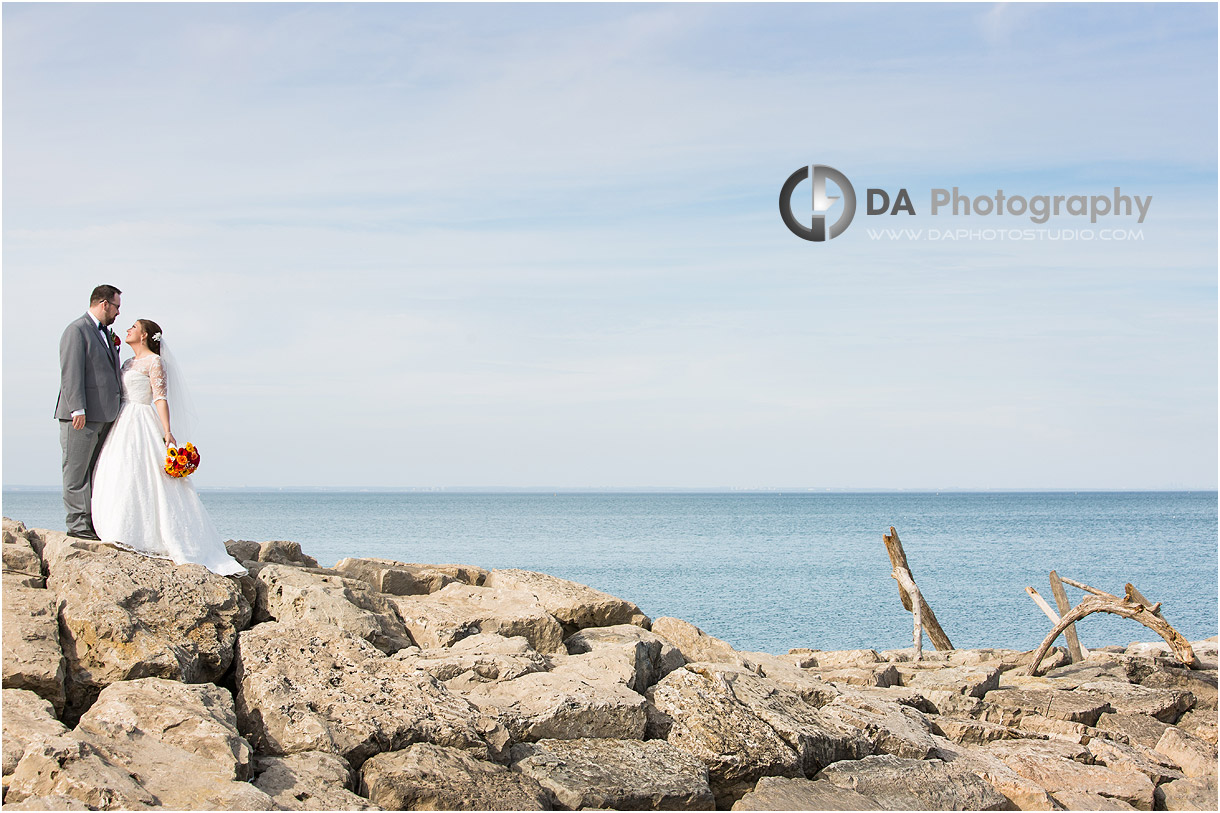
[[(2, 15), (5, 486), (60, 481), (105, 282), (201, 487), (1216, 487), (1214, 5)], [(810, 164), (859, 198), (826, 243)], [(1153, 201), (931, 239), (1035, 228), (953, 187)]]

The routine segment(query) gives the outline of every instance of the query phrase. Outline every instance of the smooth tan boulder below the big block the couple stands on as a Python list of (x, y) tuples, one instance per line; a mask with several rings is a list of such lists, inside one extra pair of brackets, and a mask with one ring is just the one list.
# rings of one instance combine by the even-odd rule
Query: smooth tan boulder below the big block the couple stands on
[(111, 684), (73, 734), (131, 770), (165, 807), (276, 809), (245, 781), (254, 752), (237, 730), (232, 696), (218, 686), (161, 678)]

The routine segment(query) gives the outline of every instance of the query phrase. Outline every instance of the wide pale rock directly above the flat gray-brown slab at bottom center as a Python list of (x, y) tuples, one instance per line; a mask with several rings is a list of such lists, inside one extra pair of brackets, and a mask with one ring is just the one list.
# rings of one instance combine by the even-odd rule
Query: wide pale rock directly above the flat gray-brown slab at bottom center
[(583, 674), (562, 664), (500, 682), (473, 684), (460, 695), (500, 720), (512, 740), (609, 737), (642, 740), (647, 701), (610, 676)]

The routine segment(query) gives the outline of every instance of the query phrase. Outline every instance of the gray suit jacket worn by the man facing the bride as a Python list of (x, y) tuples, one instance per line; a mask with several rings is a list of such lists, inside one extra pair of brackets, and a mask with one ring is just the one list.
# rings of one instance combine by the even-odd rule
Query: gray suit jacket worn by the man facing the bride
[(102, 338), (89, 314), (63, 330), (60, 339), (60, 399), (55, 416), (72, 420), (72, 413), (84, 410), (85, 420), (109, 424), (118, 417), (122, 387), (118, 350)]

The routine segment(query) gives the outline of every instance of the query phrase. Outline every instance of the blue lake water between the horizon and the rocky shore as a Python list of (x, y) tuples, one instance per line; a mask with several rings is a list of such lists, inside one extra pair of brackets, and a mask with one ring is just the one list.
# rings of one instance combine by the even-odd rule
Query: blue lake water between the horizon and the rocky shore
[[(1216, 492), (201, 497), (228, 538), (294, 540), (323, 565), (383, 557), (539, 570), (741, 649), (909, 646), (881, 538), (891, 525), (959, 648), (1036, 647), (1049, 621), (1025, 587), (1053, 602), (1050, 570), (1118, 594), (1133, 582), (1187, 638), (1216, 635)], [(63, 529), (57, 492), (5, 491), (4, 514)], [(1077, 629), (1085, 646), (1155, 640), (1109, 615)]]

